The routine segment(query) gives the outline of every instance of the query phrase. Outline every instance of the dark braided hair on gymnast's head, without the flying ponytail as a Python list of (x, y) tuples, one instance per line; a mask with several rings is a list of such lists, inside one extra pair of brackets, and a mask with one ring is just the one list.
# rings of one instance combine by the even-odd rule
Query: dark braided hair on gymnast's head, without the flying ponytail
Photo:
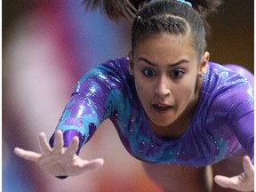
[(161, 32), (191, 36), (198, 54), (201, 56), (204, 53), (204, 21), (188, 4), (176, 0), (159, 0), (146, 4), (137, 13), (132, 25), (132, 50), (145, 36)]

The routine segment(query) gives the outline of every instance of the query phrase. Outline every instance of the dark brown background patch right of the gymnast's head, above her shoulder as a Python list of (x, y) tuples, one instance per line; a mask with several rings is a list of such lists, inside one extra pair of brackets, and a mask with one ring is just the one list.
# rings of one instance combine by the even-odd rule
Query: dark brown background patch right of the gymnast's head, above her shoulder
[(219, 12), (209, 18), (212, 36), (208, 38), (211, 60), (236, 63), (254, 69), (254, 2), (225, 0)]

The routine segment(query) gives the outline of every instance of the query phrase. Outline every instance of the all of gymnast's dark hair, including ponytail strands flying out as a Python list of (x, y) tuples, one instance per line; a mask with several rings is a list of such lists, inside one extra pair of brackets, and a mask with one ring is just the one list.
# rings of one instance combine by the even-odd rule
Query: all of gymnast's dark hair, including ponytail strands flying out
[[(158, 1), (159, 5), (165, 4), (164, 7), (163, 5), (152, 7), (152, 4), (158, 4)], [(165, 31), (173, 34), (178, 32), (180, 34), (188, 33), (188, 29), (190, 29), (196, 49), (201, 54), (206, 46), (205, 30), (208, 31), (210, 29), (206, 22), (206, 17), (217, 10), (217, 7), (222, 4), (222, 0), (187, 0), (187, 2), (192, 4), (193, 9), (187, 4), (180, 5), (181, 3), (176, 0), (166, 0), (165, 3), (162, 0), (84, 0), (83, 4), (87, 9), (100, 7), (101, 11), (107, 13), (110, 20), (119, 20), (120, 18), (134, 20), (132, 28), (133, 48), (140, 40), (140, 37), (145, 35), (146, 29), (144, 30), (143, 28), (147, 28), (151, 33), (153, 31), (155, 33), (157, 31)], [(151, 5), (144, 9), (148, 4)], [(151, 24), (147, 26), (147, 22)], [(158, 27), (156, 27), (157, 25)], [(160, 26), (162, 27), (160, 28)]]

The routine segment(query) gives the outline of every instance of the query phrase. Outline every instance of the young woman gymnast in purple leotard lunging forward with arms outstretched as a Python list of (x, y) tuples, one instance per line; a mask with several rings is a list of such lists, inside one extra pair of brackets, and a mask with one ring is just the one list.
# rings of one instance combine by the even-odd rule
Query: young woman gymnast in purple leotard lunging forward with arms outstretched
[(164, 191), (252, 191), (252, 74), (209, 62), (205, 46), (204, 21), (193, 4), (146, 4), (133, 22), (129, 59), (108, 60), (80, 79), (52, 148), (41, 133), (42, 154), (15, 153), (60, 178), (99, 168), (102, 159), (78, 153), (109, 118)]

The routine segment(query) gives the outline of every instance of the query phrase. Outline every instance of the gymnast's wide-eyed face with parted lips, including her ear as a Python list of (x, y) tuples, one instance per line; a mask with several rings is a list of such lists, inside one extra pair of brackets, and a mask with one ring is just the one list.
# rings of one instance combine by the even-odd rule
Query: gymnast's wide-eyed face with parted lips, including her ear
[(130, 71), (151, 125), (185, 121), (196, 107), (209, 53), (199, 60), (191, 42), (189, 36), (160, 33), (144, 37), (129, 52)]

